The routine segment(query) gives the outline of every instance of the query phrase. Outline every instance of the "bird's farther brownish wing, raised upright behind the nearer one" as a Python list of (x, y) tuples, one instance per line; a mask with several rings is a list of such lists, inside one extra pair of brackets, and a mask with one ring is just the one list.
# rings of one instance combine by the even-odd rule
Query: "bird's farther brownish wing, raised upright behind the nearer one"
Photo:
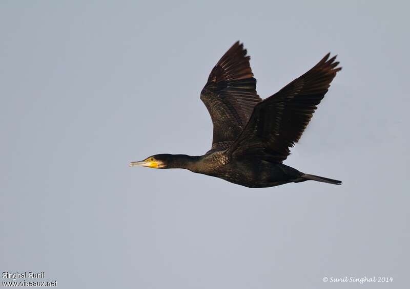
[(261, 101), (249, 59), (243, 44), (237, 41), (215, 65), (202, 89), (201, 100), (214, 125), (212, 149), (228, 148)]

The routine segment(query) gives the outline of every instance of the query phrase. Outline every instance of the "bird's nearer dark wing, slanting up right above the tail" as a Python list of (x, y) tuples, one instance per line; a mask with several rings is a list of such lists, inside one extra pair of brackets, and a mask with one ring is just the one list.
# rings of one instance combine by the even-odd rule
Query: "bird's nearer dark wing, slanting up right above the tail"
[(285, 160), (300, 139), (316, 105), (341, 70), (327, 54), (310, 71), (255, 106), (249, 123), (229, 148), (234, 155), (255, 154), (269, 161)]

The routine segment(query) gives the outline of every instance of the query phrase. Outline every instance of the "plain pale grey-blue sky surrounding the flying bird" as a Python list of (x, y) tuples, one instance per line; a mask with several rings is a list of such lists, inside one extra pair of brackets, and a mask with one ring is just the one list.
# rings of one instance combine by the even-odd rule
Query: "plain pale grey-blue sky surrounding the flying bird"
[[(409, 8), (2, 1), (0, 270), (60, 288), (408, 287)], [(342, 186), (128, 167), (210, 148), (199, 92), (236, 40), (262, 98), (339, 55), (286, 164)]]

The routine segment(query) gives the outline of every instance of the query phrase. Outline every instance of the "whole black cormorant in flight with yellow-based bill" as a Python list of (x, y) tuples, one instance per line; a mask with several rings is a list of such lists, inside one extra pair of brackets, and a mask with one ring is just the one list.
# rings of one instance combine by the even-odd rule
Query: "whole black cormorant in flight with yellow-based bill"
[(329, 56), (262, 100), (256, 93), (250, 56), (237, 41), (212, 69), (200, 95), (214, 126), (211, 150), (195, 157), (155, 154), (130, 166), (188, 169), (250, 188), (308, 180), (340, 185), (341, 181), (306, 174), (282, 163), (341, 70), (336, 56)]

